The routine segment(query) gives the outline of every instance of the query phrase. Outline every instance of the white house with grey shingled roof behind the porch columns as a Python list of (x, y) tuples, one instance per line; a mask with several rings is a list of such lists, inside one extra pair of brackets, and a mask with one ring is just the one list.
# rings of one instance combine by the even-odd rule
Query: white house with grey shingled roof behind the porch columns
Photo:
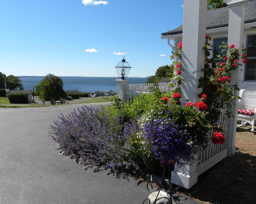
[[(245, 21), (243, 32), (243, 44), (247, 49), (247, 63), (242, 66), (241, 87), (248, 85), (256, 86), (256, 0), (247, 0), (245, 8)], [(216, 58), (221, 52), (219, 46), (222, 41), (227, 43), (229, 25), (229, 7), (218, 8), (206, 12), (206, 35), (211, 36), (210, 43), (213, 45), (213, 51), (210, 57)], [(161, 33), (162, 39), (174, 41), (178, 45), (182, 41), (183, 25), (164, 33)], [(217, 60), (217, 59), (216, 59)]]

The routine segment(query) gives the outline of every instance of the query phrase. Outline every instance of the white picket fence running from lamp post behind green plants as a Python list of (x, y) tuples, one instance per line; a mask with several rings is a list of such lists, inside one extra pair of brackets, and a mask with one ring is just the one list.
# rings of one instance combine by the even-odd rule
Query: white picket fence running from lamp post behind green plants
[[(172, 87), (169, 86), (171, 83), (159, 83), (159, 89), (162, 92), (170, 92), (172, 91)], [(128, 84), (127, 91), (125, 91), (125, 99), (127, 101), (132, 101), (133, 96), (139, 96), (141, 93), (142, 94), (148, 94), (152, 90), (148, 89), (149, 87), (153, 87), (154, 84)]]

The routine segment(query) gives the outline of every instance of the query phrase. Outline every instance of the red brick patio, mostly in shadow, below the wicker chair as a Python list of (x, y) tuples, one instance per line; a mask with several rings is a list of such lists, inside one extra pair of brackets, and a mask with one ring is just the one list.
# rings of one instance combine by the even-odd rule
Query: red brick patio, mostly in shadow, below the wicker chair
[(198, 177), (185, 194), (203, 203), (256, 203), (256, 133), (237, 128), (236, 153)]

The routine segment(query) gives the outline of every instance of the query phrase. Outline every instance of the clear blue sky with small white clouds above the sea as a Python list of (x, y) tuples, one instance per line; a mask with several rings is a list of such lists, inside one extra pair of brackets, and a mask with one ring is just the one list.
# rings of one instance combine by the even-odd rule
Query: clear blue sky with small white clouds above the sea
[(161, 33), (182, 24), (182, 3), (0, 0), (0, 71), (116, 77), (115, 66), (125, 56), (132, 67), (128, 77), (154, 75), (171, 63), (171, 48)]

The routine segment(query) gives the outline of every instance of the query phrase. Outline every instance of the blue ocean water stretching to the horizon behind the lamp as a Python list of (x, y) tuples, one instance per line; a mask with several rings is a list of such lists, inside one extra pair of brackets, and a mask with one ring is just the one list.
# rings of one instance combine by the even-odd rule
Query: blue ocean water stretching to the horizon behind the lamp
[[(21, 76), (23, 87), (25, 90), (33, 90), (36, 84), (38, 84), (44, 77), (36, 76)], [(117, 91), (116, 79), (118, 77), (60, 77), (63, 82), (64, 90), (79, 90), (84, 92), (94, 91)], [(127, 77), (125, 79), (130, 80), (128, 84), (143, 84), (147, 78), (140, 77)]]

